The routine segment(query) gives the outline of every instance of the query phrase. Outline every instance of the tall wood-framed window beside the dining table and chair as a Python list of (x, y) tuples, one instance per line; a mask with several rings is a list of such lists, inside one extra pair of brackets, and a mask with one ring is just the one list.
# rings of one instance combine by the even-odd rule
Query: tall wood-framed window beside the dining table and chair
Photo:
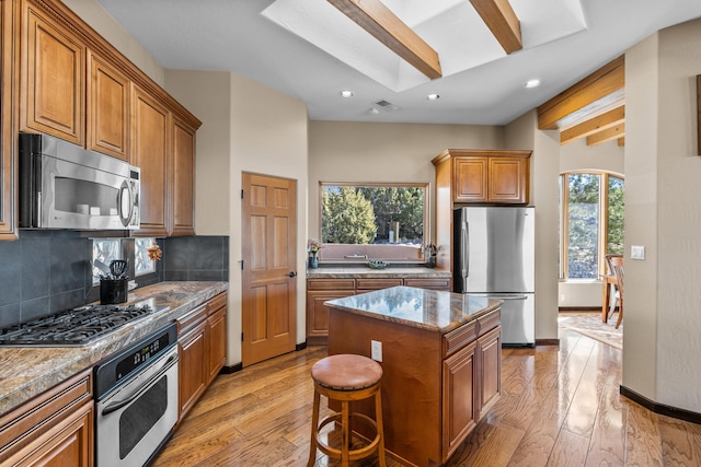
[(605, 255), (623, 253), (623, 178), (571, 172), (561, 184), (561, 278), (598, 279)]

